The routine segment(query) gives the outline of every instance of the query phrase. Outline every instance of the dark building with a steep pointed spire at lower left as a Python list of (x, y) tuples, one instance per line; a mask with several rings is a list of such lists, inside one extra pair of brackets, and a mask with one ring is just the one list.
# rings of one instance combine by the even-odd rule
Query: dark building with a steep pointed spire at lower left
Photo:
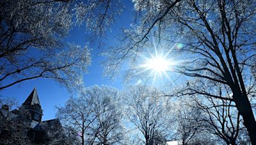
[[(28, 139), (31, 144), (65, 144), (65, 135), (63, 134), (63, 128), (58, 119), (42, 121), (43, 110), (36, 92), (36, 88), (30, 93), (28, 98), (22, 103), (19, 109), (9, 111), (6, 109), (8, 106), (2, 106), (0, 111), (3, 115), (12, 116), (10, 123), (17, 125), (20, 120), (23, 120), (24, 129), (13, 130), (8, 128), (8, 125), (5, 128), (0, 129), (0, 137), (6, 137), (8, 139), (17, 139), (17, 137), (9, 137), (8, 134), (13, 132), (23, 132), (20, 134), (26, 135), (26, 137), (19, 137), (20, 140)], [(25, 117), (26, 115), (29, 117)], [(2, 116), (4, 118), (4, 116)], [(24, 120), (26, 118), (26, 120)], [(26, 128), (26, 125), (28, 127)], [(22, 126), (22, 125), (20, 125)], [(15, 127), (17, 128), (17, 127)], [(7, 130), (7, 131), (6, 131)], [(17, 140), (19, 141), (19, 140)], [(15, 141), (14, 141), (15, 143)], [(19, 142), (17, 142), (19, 144)], [(12, 143), (13, 144), (13, 143)]]

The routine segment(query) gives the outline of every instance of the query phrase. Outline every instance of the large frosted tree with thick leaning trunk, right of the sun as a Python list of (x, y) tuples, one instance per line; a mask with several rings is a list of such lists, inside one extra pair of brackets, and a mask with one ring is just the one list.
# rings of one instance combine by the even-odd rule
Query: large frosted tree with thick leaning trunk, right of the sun
[[(131, 71), (136, 69), (140, 63), (138, 53), (152, 46), (150, 37), (156, 37), (158, 46), (167, 43), (165, 47), (173, 46), (173, 55), (186, 60), (173, 68), (175, 72), (190, 78), (202, 78), (209, 83), (208, 86), (221, 83), (229, 88), (232, 97), (221, 98), (236, 103), (252, 144), (256, 144), (256, 121), (250, 104), (250, 92), (255, 90), (255, 1), (189, 0), (180, 1), (170, 8), (172, 4), (161, 0), (134, 1), (139, 16), (138, 27), (125, 30), (122, 45), (107, 52), (111, 59), (107, 68), (115, 69), (122, 61), (128, 60)], [(148, 29), (152, 22), (156, 22), (156, 27)], [(146, 37), (141, 35), (145, 32)], [(183, 46), (176, 46), (177, 43)], [(185, 91), (186, 94), (220, 98), (200, 90), (200, 87), (190, 86)]]

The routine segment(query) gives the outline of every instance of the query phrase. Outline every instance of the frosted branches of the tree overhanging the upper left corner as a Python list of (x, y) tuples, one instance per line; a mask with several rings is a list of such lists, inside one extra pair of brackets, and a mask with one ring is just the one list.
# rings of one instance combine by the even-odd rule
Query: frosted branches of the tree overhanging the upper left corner
[(90, 51), (66, 43), (68, 32), (83, 25), (88, 34), (104, 36), (121, 10), (118, 0), (1, 1), (0, 90), (35, 78), (54, 79), (70, 90), (81, 85)]

